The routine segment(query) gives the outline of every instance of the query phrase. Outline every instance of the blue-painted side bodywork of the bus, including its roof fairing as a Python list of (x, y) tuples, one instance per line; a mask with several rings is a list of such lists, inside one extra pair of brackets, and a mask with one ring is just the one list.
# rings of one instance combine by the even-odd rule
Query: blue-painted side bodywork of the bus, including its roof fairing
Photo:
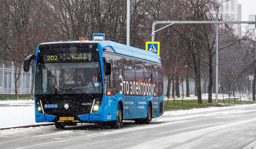
[[(160, 57), (157, 54), (152, 52), (147, 52), (142, 49), (138, 49), (131, 46), (126, 46), (120, 43), (115, 43), (113, 41), (101, 41), (98, 43), (98, 49), (100, 54), (100, 60), (103, 60), (102, 49), (105, 47), (110, 47), (112, 51), (116, 54), (125, 55), (128, 57), (135, 57), (146, 61), (151, 61), (154, 63), (160, 63)], [(128, 50), (127, 50), (128, 49)], [(103, 63), (101, 63), (103, 68)], [(104, 72), (102, 71), (102, 76)], [(103, 77), (104, 82), (104, 77)], [(104, 91), (106, 92), (106, 91)], [(115, 99), (115, 100), (114, 100)], [(116, 120), (116, 109), (119, 101), (123, 104), (123, 119), (135, 119), (147, 117), (148, 103), (151, 102), (152, 106), (152, 117), (159, 117), (163, 115), (163, 112), (160, 112), (160, 103), (163, 101), (163, 96), (161, 97), (152, 97), (152, 95), (147, 95), (145, 97), (138, 96), (124, 96), (122, 93), (118, 93), (115, 96), (103, 96), (103, 101), (105, 101), (105, 115), (104, 121), (106, 120)], [(114, 111), (114, 112), (113, 112)]]

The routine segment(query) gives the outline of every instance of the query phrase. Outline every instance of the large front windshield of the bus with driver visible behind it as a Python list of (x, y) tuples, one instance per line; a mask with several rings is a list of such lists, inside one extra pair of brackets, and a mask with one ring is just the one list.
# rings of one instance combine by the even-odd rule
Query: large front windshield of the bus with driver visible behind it
[(99, 62), (42, 63), (36, 73), (35, 94), (102, 93)]

